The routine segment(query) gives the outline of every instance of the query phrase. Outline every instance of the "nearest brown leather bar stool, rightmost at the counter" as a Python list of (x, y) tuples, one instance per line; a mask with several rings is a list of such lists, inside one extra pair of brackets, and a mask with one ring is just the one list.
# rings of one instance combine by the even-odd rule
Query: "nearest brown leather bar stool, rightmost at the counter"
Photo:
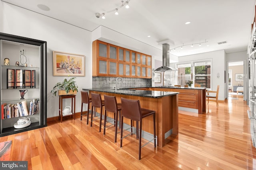
[[(139, 160), (140, 160), (140, 158), (141, 158), (141, 148), (142, 147), (144, 147), (145, 145), (147, 145), (148, 143), (150, 143), (153, 140), (154, 140), (154, 147), (156, 147), (156, 112), (154, 110), (141, 108), (139, 100), (129, 100), (129, 99), (121, 98), (121, 102), (122, 102), (122, 114), (121, 114), (122, 115), (122, 119), (121, 119), (122, 125), (121, 125), (121, 143), (120, 143), (120, 147), (122, 148), (123, 139), (125, 137), (127, 137), (128, 135), (132, 134), (132, 132), (131, 132), (128, 135), (126, 135), (125, 137), (123, 137), (123, 124), (124, 124), (123, 120), (124, 120), (124, 117), (126, 117), (128, 119), (131, 119), (131, 127), (132, 127), (132, 120), (136, 121), (136, 123), (138, 121), (140, 121), (140, 135), (139, 135)], [(154, 139), (152, 139), (151, 141), (148, 141), (146, 144), (141, 146), (142, 119), (144, 117), (147, 117), (147, 116), (150, 116), (150, 115), (153, 115)]]

